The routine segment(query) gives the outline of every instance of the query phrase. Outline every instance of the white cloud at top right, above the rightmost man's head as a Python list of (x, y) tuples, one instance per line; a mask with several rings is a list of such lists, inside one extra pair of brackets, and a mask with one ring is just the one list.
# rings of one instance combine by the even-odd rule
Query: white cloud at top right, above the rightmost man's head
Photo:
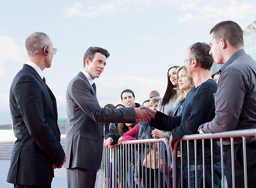
[(195, 0), (180, 2), (180, 9), (185, 11), (178, 18), (179, 22), (209, 22), (223, 19), (243, 19), (248, 14), (256, 13), (255, 6), (250, 3), (241, 3), (236, 0), (211, 2)]

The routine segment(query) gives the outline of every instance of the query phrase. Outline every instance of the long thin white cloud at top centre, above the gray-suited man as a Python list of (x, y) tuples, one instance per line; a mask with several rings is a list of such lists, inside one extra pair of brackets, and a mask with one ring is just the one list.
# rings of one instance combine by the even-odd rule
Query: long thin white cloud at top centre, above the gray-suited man
[(64, 16), (82, 16), (85, 18), (109, 15), (111, 13), (146, 13), (145, 8), (170, 3), (174, 0), (106, 0), (91, 4), (72, 3), (71, 7), (65, 8)]

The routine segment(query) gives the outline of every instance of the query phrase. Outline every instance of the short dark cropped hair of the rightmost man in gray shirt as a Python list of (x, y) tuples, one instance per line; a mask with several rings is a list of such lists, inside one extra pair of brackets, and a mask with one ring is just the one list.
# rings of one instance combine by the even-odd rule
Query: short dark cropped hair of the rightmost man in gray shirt
[(235, 48), (243, 47), (243, 30), (236, 22), (223, 21), (217, 23), (210, 30), (211, 33), (213, 33), (215, 40), (223, 38)]

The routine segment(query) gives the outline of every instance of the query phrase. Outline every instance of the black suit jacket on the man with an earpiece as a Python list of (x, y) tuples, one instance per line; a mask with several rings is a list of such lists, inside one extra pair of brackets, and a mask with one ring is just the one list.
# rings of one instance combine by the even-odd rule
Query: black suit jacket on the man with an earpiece
[(10, 88), (10, 112), (17, 140), (13, 146), (7, 181), (23, 185), (48, 185), (52, 163), (61, 165), (56, 99), (36, 70), (23, 65)]

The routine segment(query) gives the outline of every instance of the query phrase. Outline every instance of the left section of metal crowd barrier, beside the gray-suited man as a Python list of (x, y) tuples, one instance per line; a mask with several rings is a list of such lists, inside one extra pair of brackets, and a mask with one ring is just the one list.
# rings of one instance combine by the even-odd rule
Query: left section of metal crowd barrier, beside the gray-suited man
[[(150, 146), (148, 145), (150, 144)], [(160, 143), (163, 143), (163, 149), (159, 150)], [(156, 150), (159, 151), (158, 158), (156, 158), (156, 155), (151, 156), (151, 147), (153, 154), (156, 154)], [(143, 151), (143, 148), (148, 148), (148, 151), (145, 150), (145, 152), (139, 152), (140, 149)], [(166, 160), (166, 166), (167, 170), (165, 169), (164, 165), (164, 171), (166, 170), (167, 173), (163, 174), (163, 178), (160, 178), (160, 175), (162, 174), (160, 172), (160, 152), (163, 153), (163, 159)], [(167, 154), (167, 156), (165, 155)], [(143, 157), (143, 154), (146, 155), (146, 159), (148, 159), (147, 154), (149, 155), (149, 169), (143, 168), (143, 160), (141, 158)], [(135, 156), (138, 156), (136, 158)], [(132, 158), (134, 159), (132, 160)], [(139, 160), (136, 161), (136, 160)], [(158, 169), (156, 169), (156, 160), (158, 159)], [(151, 164), (151, 161), (153, 161), (153, 164)], [(146, 166), (148, 166), (147, 160), (145, 160)], [(171, 172), (171, 162), (172, 162), (172, 152), (171, 148), (169, 146), (169, 140), (166, 138), (159, 138), (159, 139), (144, 139), (144, 140), (131, 140), (131, 141), (123, 141), (121, 145), (116, 144), (113, 146), (113, 148), (105, 148), (103, 147), (103, 154), (102, 154), (102, 162), (100, 166), (100, 170), (97, 173), (96, 177), (96, 184), (95, 188), (162, 188), (166, 187), (171, 188), (172, 187), (172, 172)], [(138, 168), (136, 165), (138, 164), (141, 166), (141, 168)], [(151, 166), (154, 165), (154, 169), (151, 168)], [(130, 168), (128, 168), (130, 167)], [(153, 167), (153, 166), (152, 166)], [(134, 169), (134, 171), (133, 171)], [(147, 175), (148, 171), (149, 175)], [(154, 170), (154, 171), (152, 171)], [(136, 173), (138, 173), (138, 179), (141, 179), (140, 185), (135, 186), (133, 183), (129, 181), (127, 182), (127, 179), (130, 180), (130, 178), (136, 178)], [(154, 180), (152, 181), (155, 185), (151, 184), (151, 177), (153, 177), (154, 173)], [(156, 176), (158, 174), (158, 177)], [(148, 177), (149, 176), (149, 177)], [(156, 185), (156, 182), (159, 182), (158, 185)], [(147, 185), (147, 182), (149, 183), (149, 186)], [(160, 184), (162, 183), (162, 186)], [(145, 186), (143, 186), (145, 184)]]

